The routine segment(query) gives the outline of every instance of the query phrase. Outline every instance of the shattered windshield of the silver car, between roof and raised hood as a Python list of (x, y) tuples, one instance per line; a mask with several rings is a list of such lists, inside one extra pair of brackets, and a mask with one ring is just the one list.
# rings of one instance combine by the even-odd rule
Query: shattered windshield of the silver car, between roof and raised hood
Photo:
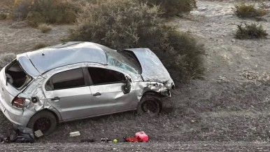
[(128, 60), (127, 57), (110, 48), (101, 47), (106, 53), (108, 65), (131, 71), (134, 74), (140, 74), (140, 67)]

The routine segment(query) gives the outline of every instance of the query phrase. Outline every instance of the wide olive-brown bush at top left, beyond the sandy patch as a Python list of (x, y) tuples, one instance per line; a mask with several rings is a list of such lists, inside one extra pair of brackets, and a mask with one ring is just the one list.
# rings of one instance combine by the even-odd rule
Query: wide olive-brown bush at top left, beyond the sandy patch
[(38, 23), (71, 23), (76, 20), (77, 5), (69, 0), (15, 0), (13, 19)]

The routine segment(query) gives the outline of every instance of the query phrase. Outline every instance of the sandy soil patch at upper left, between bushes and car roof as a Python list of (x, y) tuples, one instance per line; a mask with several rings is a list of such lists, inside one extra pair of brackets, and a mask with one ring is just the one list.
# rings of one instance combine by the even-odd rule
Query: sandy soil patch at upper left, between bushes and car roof
[(61, 43), (66, 38), (71, 25), (55, 25), (49, 34), (27, 26), (27, 22), (3, 20), (0, 22), (0, 53), (24, 53), (38, 45), (45, 43), (53, 45)]

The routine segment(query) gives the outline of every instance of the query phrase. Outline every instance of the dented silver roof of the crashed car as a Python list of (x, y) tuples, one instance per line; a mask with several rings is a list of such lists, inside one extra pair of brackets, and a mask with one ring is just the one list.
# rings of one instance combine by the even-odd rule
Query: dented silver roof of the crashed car
[[(36, 76), (50, 69), (69, 64), (80, 62), (106, 64), (107, 62), (106, 54), (101, 46), (91, 42), (69, 42), (41, 48), (17, 55), (17, 60), (19, 60), (22, 67), (26, 69), (27, 72)], [(34, 65), (34, 68), (29, 64), (30, 62)]]

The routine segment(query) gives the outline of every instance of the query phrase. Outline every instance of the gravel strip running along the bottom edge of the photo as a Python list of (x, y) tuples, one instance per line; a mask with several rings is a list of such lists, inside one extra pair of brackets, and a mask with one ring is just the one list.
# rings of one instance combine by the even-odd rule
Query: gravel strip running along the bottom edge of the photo
[(269, 144), (248, 142), (149, 142), (118, 144), (9, 144), (0, 147), (8, 151), (269, 151)]

